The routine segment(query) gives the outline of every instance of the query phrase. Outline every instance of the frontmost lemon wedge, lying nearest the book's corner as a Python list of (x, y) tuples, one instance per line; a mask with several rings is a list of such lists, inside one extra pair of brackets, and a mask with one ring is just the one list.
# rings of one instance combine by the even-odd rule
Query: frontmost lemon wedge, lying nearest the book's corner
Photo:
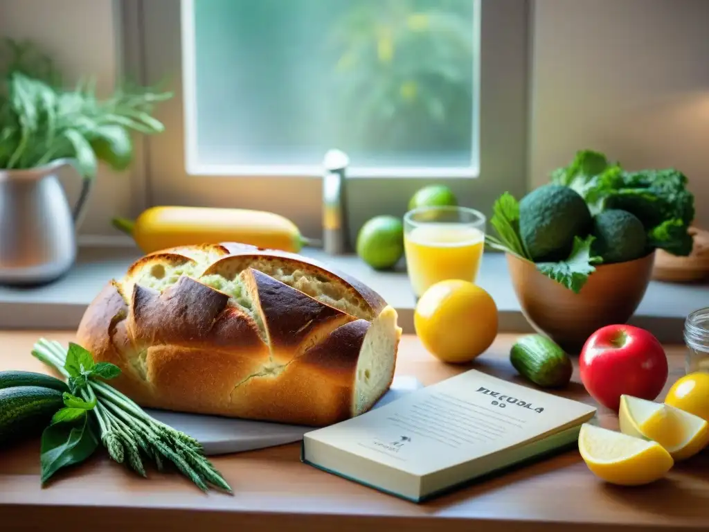
[(659, 443), (584, 423), (579, 452), (597, 477), (622, 486), (649, 484), (664, 477), (674, 460)]

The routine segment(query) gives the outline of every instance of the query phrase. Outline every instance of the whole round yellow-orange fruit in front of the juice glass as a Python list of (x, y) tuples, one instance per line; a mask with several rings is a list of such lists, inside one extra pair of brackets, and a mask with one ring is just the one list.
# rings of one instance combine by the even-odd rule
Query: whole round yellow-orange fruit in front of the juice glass
[(423, 346), (444, 362), (469, 362), (484, 353), (497, 336), (497, 305), (484, 289), (450, 279), (433, 284), (413, 314)]

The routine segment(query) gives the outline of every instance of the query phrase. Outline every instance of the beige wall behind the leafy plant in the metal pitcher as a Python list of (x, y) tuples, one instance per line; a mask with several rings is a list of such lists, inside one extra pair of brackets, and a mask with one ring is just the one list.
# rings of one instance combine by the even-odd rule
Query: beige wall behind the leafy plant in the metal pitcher
[[(0, 0), (0, 37), (33, 40), (55, 57), (67, 79), (94, 75), (99, 94), (111, 92), (121, 72), (120, 28), (114, 0)], [(90, 43), (90, 45), (87, 45)], [(62, 174), (69, 201), (79, 192), (78, 179)], [(101, 169), (80, 228), (82, 240), (116, 234), (113, 214), (130, 216), (136, 194), (133, 177)]]

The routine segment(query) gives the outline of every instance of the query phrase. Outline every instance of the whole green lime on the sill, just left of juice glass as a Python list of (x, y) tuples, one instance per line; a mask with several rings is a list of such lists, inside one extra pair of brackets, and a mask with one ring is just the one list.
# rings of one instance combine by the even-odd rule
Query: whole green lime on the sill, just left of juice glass
[(403, 256), (403, 224), (396, 216), (374, 216), (357, 234), (357, 255), (375, 270), (396, 265)]

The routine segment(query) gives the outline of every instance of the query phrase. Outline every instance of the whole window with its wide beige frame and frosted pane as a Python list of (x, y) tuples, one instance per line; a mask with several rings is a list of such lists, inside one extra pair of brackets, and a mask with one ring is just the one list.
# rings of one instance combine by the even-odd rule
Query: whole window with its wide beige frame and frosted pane
[(353, 233), (430, 182), (483, 211), (525, 189), (527, 2), (131, 0), (126, 13), (143, 82), (177, 96), (146, 143), (152, 204), (266, 209), (317, 237), (330, 148), (350, 156)]

